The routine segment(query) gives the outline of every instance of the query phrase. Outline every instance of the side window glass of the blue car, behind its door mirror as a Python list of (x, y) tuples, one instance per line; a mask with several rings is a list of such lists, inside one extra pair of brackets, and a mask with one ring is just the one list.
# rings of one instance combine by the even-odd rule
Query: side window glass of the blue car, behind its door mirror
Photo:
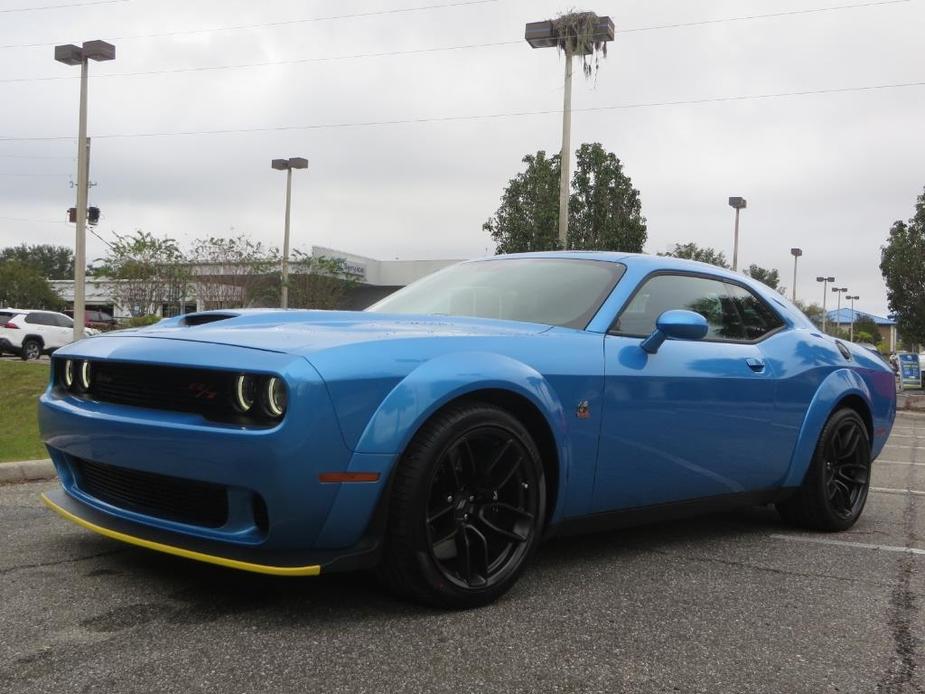
[(696, 275), (655, 275), (636, 292), (611, 332), (644, 337), (672, 309), (706, 318), (708, 340), (752, 342), (783, 325), (764, 301), (739, 285)]

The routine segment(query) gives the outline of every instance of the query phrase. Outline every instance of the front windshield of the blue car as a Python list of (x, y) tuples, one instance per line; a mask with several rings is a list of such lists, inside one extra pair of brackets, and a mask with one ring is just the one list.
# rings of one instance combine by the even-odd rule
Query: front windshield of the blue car
[(460, 263), (408, 285), (366, 310), (584, 328), (625, 269), (619, 263), (569, 258)]

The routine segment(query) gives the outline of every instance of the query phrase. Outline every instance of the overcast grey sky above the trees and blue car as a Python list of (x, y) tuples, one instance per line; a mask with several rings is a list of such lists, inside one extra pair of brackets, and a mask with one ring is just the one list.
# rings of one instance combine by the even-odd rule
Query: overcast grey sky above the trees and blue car
[[(17, 11), (54, 4), (83, 6)], [(866, 6), (702, 23), (846, 5)], [(304, 156), (295, 247), (377, 258), (492, 253), (482, 223), (521, 158), (560, 146), (563, 58), (531, 50), (524, 23), (572, 6), (0, 0), (0, 245), (73, 243), (59, 220), (74, 205), (79, 69), (54, 62), (53, 45), (101, 38), (117, 46), (114, 62), (91, 64), (91, 204), (103, 210), (104, 238), (246, 232), (279, 245), (284, 174), (270, 159)], [(410, 8), (428, 9), (383, 14)], [(647, 251), (694, 241), (731, 259), (726, 201), (741, 195), (740, 265), (778, 268), (789, 287), (789, 249), (800, 246), (798, 298), (821, 301), (815, 277), (834, 275), (861, 296), (859, 309), (886, 312), (879, 249), (925, 186), (925, 86), (652, 104), (923, 82), (925, 0), (577, 9), (609, 14), (618, 34), (596, 82), (576, 79), (572, 140), (600, 142), (623, 160), (648, 218)], [(678, 24), (688, 26), (665, 28)], [(647, 27), (662, 28), (639, 30)], [(467, 47), (412, 52), (454, 46)], [(248, 67), (176, 72), (227, 65)], [(138, 72), (158, 74), (117, 76)], [(600, 107), (611, 108), (587, 110)], [(525, 112), (547, 113), (446, 120)], [(369, 125), (416, 119), (434, 120)], [(344, 124), (354, 125), (327, 127)], [(259, 130), (289, 126), (300, 127)], [(210, 130), (257, 131), (138, 136)], [(92, 236), (88, 246), (91, 258), (105, 251)]]

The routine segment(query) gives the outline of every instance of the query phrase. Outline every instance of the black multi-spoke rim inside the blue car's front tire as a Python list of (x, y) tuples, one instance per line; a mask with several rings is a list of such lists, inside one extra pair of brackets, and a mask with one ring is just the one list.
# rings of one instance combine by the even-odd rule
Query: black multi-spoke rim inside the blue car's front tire
[(437, 461), (425, 511), (431, 557), (461, 588), (492, 586), (521, 562), (539, 512), (530, 454), (511, 432), (482, 426)]

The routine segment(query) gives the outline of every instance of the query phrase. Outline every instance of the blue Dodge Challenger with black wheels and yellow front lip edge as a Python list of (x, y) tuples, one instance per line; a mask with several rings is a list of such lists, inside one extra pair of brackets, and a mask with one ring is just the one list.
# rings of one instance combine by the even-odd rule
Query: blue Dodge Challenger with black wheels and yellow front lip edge
[(500, 256), (364, 312), (194, 313), (58, 350), (44, 501), (152, 550), (375, 568), (469, 607), (554, 535), (759, 504), (849, 528), (895, 411), (889, 367), (742, 275)]

